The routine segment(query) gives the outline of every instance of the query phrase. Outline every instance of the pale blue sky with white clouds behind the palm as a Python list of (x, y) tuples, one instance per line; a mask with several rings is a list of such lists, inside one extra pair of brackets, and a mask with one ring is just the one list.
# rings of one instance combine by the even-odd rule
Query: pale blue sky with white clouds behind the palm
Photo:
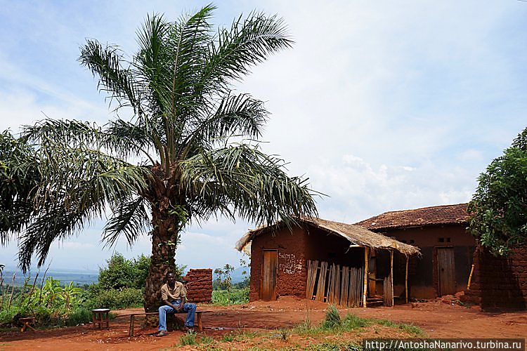
[[(147, 13), (169, 19), (204, 1), (0, 1), (0, 129), (46, 114), (100, 124), (114, 117), (77, 62), (86, 38), (136, 48)], [(228, 25), (278, 13), (296, 44), (236, 88), (272, 112), (264, 150), (329, 197), (320, 217), (353, 223), (384, 211), (468, 201), (486, 165), (526, 127), (527, 3), (485, 1), (221, 1)], [(96, 269), (111, 251), (103, 223), (53, 246), (52, 267)], [(238, 263), (252, 223), (190, 227), (176, 260)], [(148, 237), (125, 256), (150, 252)], [(0, 263), (16, 265), (16, 243)]]

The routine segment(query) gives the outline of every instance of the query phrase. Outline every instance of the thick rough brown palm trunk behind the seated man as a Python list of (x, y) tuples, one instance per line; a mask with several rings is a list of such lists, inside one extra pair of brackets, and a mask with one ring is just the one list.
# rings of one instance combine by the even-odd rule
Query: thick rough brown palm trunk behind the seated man
[[(152, 206), (153, 207), (153, 206)], [(174, 272), (179, 237), (178, 219), (167, 209), (152, 208), (152, 256), (145, 282), (145, 312), (157, 312), (161, 303), (161, 286), (169, 272)]]

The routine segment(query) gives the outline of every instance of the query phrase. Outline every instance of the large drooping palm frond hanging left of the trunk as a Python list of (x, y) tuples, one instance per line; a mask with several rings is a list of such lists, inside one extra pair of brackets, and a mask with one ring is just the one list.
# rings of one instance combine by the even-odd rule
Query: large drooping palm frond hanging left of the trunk
[(150, 171), (127, 164), (100, 150), (60, 143), (39, 145), (36, 153), (41, 179), (30, 200), (34, 216), (20, 234), (20, 265), (26, 270), (32, 255), (44, 263), (51, 243), (78, 233), (107, 206), (145, 192)]

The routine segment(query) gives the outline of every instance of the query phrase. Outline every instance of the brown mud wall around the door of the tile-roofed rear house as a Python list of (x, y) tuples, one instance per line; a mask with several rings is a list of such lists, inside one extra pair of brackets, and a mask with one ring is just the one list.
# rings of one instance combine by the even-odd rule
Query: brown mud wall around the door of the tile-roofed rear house
[[(433, 227), (415, 227), (385, 232), (407, 244), (418, 246), (422, 257), (410, 258), (408, 264), (408, 285), (411, 298), (436, 298), (439, 295), (437, 248), (454, 247), (456, 291), (464, 291), (472, 265), (472, 255), (476, 241), (465, 230), (466, 225), (438, 225)], [(404, 292), (405, 258), (396, 255), (393, 262), (394, 294)]]

